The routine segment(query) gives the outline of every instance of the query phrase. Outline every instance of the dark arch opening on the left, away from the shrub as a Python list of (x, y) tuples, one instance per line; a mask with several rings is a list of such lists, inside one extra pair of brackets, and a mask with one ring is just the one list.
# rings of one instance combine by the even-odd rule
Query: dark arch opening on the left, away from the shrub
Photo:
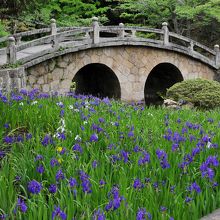
[(104, 98), (121, 98), (120, 83), (115, 73), (106, 65), (92, 63), (82, 67), (73, 78), (76, 94)]

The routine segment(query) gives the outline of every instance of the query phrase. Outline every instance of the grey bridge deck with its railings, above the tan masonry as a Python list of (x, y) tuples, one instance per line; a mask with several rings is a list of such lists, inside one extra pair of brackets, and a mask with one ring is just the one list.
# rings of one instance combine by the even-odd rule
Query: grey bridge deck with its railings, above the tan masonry
[[(50, 31), (49, 35), (35, 38), (35, 40), (28, 42), (21, 42), (21, 37), (42, 33), (48, 34)], [(153, 34), (154, 37), (148, 37), (149, 34)], [(109, 37), (106, 37), (108, 35)], [(192, 39), (169, 32), (166, 23), (163, 23), (162, 29), (153, 29), (125, 27), (123, 25), (104, 27), (99, 26), (97, 21), (95, 21), (93, 27), (56, 29), (55, 26), (54, 28), (51, 26), (51, 29), (46, 28), (18, 33), (13, 37), (9, 37), (8, 40), (9, 61), (7, 61), (6, 56), (7, 48), (0, 49), (0, 68), (2, 65), (7, 64), (7, 62), (9, 64), (18, 62), (24, 66), (27, 63), (29, 63), (27, 66), (35, 65), (37, 60), (43, 61), (43, 57), (52, 58), (52, 55), (59, 56), (65, 54), (61, 51), (69, 53), (94, 47), (123, 45), (147, 46), (175, 51), (198, 59), (215, 69), (218, 69), (220, 66), (218, 45), (215, 45), (215, 50), (212, 50)], [(0, 38), (0, 43), (6, 41), (7, 37)], [(56, 46), (53, 47), (52, 44)]]

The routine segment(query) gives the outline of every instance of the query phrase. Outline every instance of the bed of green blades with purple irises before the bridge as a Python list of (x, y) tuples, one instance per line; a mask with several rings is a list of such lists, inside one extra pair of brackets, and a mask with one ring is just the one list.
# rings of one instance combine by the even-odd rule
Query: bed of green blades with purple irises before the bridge
[[(157, 220), (195, 220), (220, 207), (218, 109), (172, 111), (83, 96), (47, 97), (36, 90), (22, 93), (7, 101), (0, 95), (2, 217), (104, 215), (121, 220), (151, 215)], [(210, 156), (215, 156), (215, 165), (207, 162)], [(57, 160), (54, 167), (51, 159)], [(162, 167), (165, 163), (167, 168)], [(37, 171), (40, 165), (42, 173)], [(63, 178), (58, 180), (59, 170)], [(41, 184), (40, 193), (30, 192), (33, 180)], [(190, 188), (194, 182), (201, 192)], [(55, 193), (49, 191), (51, 184), (57, 187)]]

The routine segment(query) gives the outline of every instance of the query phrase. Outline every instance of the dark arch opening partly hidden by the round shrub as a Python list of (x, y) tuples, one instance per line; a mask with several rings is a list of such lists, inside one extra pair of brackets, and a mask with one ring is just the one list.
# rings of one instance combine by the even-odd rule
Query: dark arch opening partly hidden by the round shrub
[(183, 81), (180, 70), (171, 63), (160, 63), (147, 77), (144, 87), (146, 105), (161, 105), (166, 90), (177, 82)]

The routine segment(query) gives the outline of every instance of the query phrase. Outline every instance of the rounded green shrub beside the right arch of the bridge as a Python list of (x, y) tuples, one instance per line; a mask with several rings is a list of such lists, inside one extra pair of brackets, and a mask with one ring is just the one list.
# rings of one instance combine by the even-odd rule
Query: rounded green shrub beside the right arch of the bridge
[(220, 83), (205, 79), (185, 80), (170, 87), (166, 98), (185, 100), (201, 109), (213, 109), (220, 107)]

